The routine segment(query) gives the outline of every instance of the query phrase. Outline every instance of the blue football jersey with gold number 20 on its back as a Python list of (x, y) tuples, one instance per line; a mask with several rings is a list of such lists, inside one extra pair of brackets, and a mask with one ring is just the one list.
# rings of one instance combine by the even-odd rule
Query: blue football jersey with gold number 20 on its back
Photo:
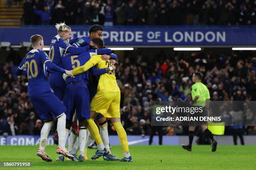
[(45, 63), (50, 61), (46, 52), (41, 50), (31, 50), (23, 58), (19, 69), (27, 71), (29, 93), (51, 90), (46, 80), (45, 67)]

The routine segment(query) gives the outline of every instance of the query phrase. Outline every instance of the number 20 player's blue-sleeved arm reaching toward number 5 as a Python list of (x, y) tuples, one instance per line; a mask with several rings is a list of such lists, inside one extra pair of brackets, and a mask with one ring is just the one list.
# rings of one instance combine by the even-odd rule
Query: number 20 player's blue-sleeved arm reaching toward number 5
[(51, 60), (49, 59), (48, 55), (46, 54), (46, 52), (41, 52), (40, 57), (41, 57), (41, 60), (43, 61), (44, 65), (46, 65), (46, 67), (48, 68), (47, 70), (49, 72), (54, 71), (54, 72), (65, 73), (65, 74), (73, 77), (73, 75), (70, 71), (64, 70), (64, 69), (56, 66), (54, 63), (52, 63)]

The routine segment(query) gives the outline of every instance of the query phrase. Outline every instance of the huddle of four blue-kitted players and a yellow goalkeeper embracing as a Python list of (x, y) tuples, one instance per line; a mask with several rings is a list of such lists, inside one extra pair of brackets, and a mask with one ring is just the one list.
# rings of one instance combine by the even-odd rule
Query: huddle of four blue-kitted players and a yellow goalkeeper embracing
[[(103, 156), (104, 160), (132, 162), (127, 135), (120, 122), (120, 89), (114, 65), (117, 55), (104, 46), (102, 27), (92, 25), (89, 36), (74, 39), (66, 24), (56, 24), (56, 29), (58, 35), (51, 40), (49, 55), (43, 51), (43, 37), (33, 35), (30, 39), (33, 50), (27, 53), (15, 72), (28, 76), (29, 98), (38, 116), (44, 120), (37, 155), (42, 160), (52, 161), (45, 148), (53, 117), (56, 117), (59, 137), (56, 149), (59, 158), (56, 160), (63, 161), (64, 156), (73, 161), (87, 160), (87, 147), (94, 139), (97, 151), (92, 160)], [(122, 159), (110, 151), (106, 118), (118, 133), (124, 153)]]

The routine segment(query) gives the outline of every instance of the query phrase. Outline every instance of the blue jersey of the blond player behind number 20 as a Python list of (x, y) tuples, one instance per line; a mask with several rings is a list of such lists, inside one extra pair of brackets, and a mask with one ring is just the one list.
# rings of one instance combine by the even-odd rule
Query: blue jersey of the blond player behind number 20
[(59, 35), (56, 35), (51, 40), (51, 45), (49, 50), (49, 58), (51, 62), (63, 68), (63, 65), (61, 62), (61, 55), (63, 55), (70, 46), (71, 45), (69, 41), (62, 40), (61, 37), (59, 37)]

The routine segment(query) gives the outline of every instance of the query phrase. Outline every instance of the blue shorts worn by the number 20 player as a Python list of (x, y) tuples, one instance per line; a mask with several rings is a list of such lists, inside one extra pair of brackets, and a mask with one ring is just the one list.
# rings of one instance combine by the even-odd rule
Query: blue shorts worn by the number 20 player
[(67, 110), (64, 104), (51, 91), (31, 93), (29, 98), (36, 113), (43, 120), (52, 120), (53, 115), (57, 117)]

